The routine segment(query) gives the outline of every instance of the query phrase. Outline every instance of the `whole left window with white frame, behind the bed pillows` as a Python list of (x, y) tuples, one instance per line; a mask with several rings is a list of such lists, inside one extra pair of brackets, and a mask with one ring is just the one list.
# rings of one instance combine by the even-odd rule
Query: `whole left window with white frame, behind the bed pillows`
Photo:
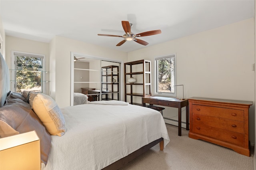
[(11, 90), (45, 93), (44, 55), (12, 51)]

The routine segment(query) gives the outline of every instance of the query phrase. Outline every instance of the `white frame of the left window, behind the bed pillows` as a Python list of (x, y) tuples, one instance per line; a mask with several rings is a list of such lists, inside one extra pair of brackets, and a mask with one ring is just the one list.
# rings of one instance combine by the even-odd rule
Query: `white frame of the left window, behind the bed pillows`
[[(38, 53), (28, 53), (28, 52), (22, 52), (22, 51), (12, 51), (12, 56), (11, 56), (11, 74), (10, 74), (10, 89), (11, 91), (16, 92), (16, 55), (23, 55), (25, 57), (39, 57), (42, 58), (42, 81), (41, 81), (41, 93), (46, 94), (46, 59), (44, 54), (38, 54)], [(12, 78), (13, 77), (13, 78)], [(12, 83), (14, 82), (14, 84)]]

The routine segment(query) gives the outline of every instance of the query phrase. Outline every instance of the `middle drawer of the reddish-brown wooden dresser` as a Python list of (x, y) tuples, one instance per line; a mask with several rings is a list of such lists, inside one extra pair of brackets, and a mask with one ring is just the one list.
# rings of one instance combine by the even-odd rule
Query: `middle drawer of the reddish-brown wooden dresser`
[(244, 122), (212, 117), (206, 115), (192, 115), (192, 124), (209, 126), (229, 130), (232, 132), (244, 133)]

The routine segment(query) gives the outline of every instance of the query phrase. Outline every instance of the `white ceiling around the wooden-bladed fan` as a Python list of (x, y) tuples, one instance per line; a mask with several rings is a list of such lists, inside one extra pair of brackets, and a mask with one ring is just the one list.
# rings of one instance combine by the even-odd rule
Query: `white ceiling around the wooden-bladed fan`
[[(0, 14), (7, 36), (50, 42), (63, 36), (120, 51), (134, 51), (254, 17), (254, 0), (1, 0)], [(132, 32), (162, 30), (162, 34), (116, 44), (121, 21)]]

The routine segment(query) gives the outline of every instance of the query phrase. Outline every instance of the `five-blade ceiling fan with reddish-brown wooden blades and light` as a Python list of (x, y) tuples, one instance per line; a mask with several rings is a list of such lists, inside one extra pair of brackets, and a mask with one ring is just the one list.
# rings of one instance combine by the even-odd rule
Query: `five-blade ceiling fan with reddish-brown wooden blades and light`
[(124, 32), (125, 32), (125, 34), (123, 36), (114, 36), (114, 35), (108, 35), (108, 34), (98, 34), (98, 36), (122, 37), (122, 38), (124, 38), (124, 40), (122, 40), (120, 43), (116, 44), (116, 46), (120, 46), (123, 43), (125, 43), (126, 41), (132, 41), (132, 40), (137, 43), (140, 43), (142, 45), (148, 45), (148, 42), (137, 39), (137, 37), (161, 34), (161, 30), (153, 30), (153, 31), (142, 32), (140, 34), (134, 34), (131, 32), (131, 28), (132, 28), (133, 24), (130, 24), (128, 21), (122, 21), (122, 26), (123, 26)]

